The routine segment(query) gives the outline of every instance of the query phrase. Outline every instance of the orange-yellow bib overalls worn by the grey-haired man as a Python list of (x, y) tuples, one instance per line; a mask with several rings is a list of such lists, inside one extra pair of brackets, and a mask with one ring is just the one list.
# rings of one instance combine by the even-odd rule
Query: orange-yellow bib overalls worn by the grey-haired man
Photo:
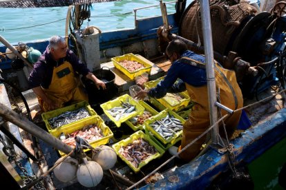
[[(57, 104), (57, 109), (66, 106), (65, 103), (78, 103), (88, 101), (88, 96), (84, 93), (82, 87), (77, 85), (73, 66), (64, 61), (59, 67), (54, 67), (52, 81), (48, 89), (44, 89), (46, 96)], [(48, 111), (48, 106), (39, 98), (39, 104), (44, 112)]]

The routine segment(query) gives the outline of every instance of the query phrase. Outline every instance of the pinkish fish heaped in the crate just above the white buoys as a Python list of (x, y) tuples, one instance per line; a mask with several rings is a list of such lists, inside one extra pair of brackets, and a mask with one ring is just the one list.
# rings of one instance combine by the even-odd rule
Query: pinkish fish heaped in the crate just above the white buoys
[(62, 139), (61, 141), (66, 143), (67, 145), (70, 145), (70, 147), (75, 147), (75, 136), (79, 136), (81, 138), (86, 139), (88, 142), (93, 142), (94, 140), (98, 140), (100, 138), (103, 138), (104, 135), (102, 133), (102, 129), (97, 127), (96, 124), (93, 125), (87, 125), (81, 130), (74, 131), (71, 134), (67, 134), (68, 138)]

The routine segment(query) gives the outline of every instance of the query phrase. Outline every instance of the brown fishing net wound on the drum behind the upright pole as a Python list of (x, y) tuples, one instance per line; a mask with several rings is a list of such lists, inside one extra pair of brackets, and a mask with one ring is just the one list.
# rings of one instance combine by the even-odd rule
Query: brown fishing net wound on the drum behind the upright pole
[[(225, 54), (227, 45), (236, 28), (249, 16), (258, 12), (247, 1), (231, 4), (229, 1), (210, 1), (213, 49)], [(182, 16), (179, 35), (195, 43), (202, 43), (202, 22), (200, 6), (196, 1), (190, 4)]]

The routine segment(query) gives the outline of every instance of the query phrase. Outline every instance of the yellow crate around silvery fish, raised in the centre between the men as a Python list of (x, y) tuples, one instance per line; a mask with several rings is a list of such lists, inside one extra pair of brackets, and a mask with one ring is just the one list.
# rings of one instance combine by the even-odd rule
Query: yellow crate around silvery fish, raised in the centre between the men
[[(130, 114), (127, 114), (125, 116), (122, 116), (120, 118), (120, 120), (115, 120), (115, 118), (113, 116), (111, 116), (111, 114), (109, 114), (107, 112), (107, 110), (111, 109), (113, 107), (121, 106), (121, 103), (122, 102), (126, 102), (126, 100), (128, 100), (128, 102), (131, 105), (135, 105), (135, 111), (131, 112)], [(103, 103), (103, 104), (100, 105), (100, 107), (102, 107), (102, 109), (104, 111), (104, 114), (106, 114), (106, 116), (108, 116), (108, 118), (110, 118), (115, 123), (115, 125), (117, 127), (120, 127), (121, 123), (124, 123), (124, 121), (126, 121), (126, 120), (128, 120), (128, 119), (130, 119), (130, 118), (132, 118), (134, 116), (143, 114), (143, 112), (144, 112), (144, 107), (142, 105), (140, 105), (137, 101), (135, 101), (133, 98), (131, 98), (131, 96), (129, 96), (128, 94), (124, 94), (123, 96), (115, 98), (112, 101), (108, 101), (106, 103)]]

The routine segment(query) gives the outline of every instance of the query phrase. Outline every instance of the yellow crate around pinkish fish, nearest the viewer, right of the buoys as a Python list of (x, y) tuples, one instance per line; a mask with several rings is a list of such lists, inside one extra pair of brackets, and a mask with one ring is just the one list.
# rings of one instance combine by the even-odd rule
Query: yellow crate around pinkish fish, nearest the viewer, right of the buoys
[[(122, 154), (119, 153), (119, 150), (122, 146), (126, 146), (129, 143), (132, 143), (134, 140), (137, 140), (138, 138), (142, 138), (143, 140), (145, 140), (146, 142), (149, 143), (149, 145), (152, 145), (153, 147), (155, 147), (155, 149), (158, 151), (156, 154), (154, 154), (153, 156), (150, 156), (149, 158), (147, 158), (146, 160), (144, 160), (143, 162), (140, 162), (138, 168), (135, 168), (131, 162), (129, 162), (126, 158), (124, 158), (124, 156), (122, 156)], [(164, 149), (162, 149), (159, 145), (157, 145), (153, 140), (151, 140), (151, 138), (149, 136), (147, 136), (146, 134), (144, 134), (143, 131), (137, 131), (134, 134), (132, 134), (129, 138), (126, 138), (124, 140), (121, 140), (120, 142), (117, 142), (116, 144), (114, 144), (113, 149), (116, 151), (116, 154), (124, 161), (126, 162), (126, 164), (131, 167), (131, 169), (133, 171), (135, 171), (135, 173), (137, 173), (138, 171), (140, 171), (140, 169), (142, 167), (144, 167), (144, 165), (147, 165), (151, 160), (154, 160), (155, 158), (159, 158), (160, 156), (162, 156), (164, 154)]]

